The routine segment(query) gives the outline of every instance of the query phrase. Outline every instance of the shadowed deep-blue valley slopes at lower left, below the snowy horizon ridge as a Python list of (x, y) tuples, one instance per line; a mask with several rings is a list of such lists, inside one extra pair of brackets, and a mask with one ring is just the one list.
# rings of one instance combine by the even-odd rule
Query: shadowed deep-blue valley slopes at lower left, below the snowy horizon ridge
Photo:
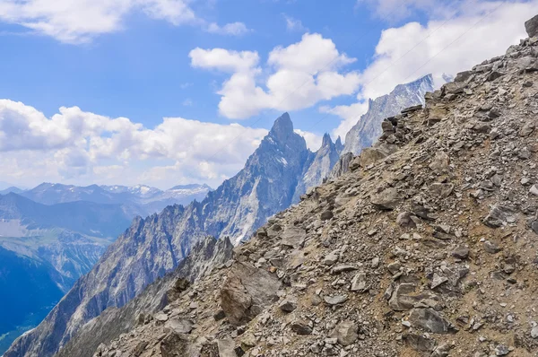
[(121, 205), (0, 196), (0, 306), (9, 307), (0, 309), (0, 353), (47, 316), (130, 222)]

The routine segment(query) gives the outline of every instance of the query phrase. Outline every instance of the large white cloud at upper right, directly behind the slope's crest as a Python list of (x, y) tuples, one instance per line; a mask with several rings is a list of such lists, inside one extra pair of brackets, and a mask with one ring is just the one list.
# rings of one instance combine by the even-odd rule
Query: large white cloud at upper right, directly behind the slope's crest
[[(431, 3), (404, 4), (427, 10)], [(393, 3), (377, 0), (377, 4), (390, 7)], [(372, 62), (360, 74), (359, 102), (347, 107), (323, 108), (323, 111), (343, 118), (341, 127), (336, 129), (342, 135), (345, 128), (360, 118), (369, 98), (375, 99), (392, 91), (397, 84), (426, 74), (433, 74), (436, 83), (444, 83), (443, 74), (454, 75), (504, 54), (510, 45), (526, 37), (524, 22), (534, 13), (538, 13), (536, 0), (504, 3), (464, 0), (458, 4), (456, 15), (424, 25), (409, 22), (384, 30)]]

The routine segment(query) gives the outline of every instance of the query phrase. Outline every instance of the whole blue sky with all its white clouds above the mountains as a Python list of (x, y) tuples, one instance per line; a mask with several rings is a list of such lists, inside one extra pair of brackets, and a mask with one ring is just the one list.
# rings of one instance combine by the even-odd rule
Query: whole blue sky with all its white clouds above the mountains
[(217, 187), (282, 112), (315, 151), (369, 98), (525, 38), (538, 0), (0, 0), (0, 181)]

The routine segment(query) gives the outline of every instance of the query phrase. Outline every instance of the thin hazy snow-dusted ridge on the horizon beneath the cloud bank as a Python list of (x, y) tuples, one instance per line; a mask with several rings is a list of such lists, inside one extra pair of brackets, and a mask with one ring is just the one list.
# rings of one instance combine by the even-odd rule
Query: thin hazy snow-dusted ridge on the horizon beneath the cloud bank
[(21, 192), (22, 196), (45, 205), (88, 201), (98, 204), (124, 205), (126, 213), (134, 218), (159, 213), (167, 205), (188, 205), (192, 201), (202, 201), (211, 187), (207, 185), (186, 185), (162, 191), (145, 185), (79, 187), (73, 185), (42, 183), (38, 187)]

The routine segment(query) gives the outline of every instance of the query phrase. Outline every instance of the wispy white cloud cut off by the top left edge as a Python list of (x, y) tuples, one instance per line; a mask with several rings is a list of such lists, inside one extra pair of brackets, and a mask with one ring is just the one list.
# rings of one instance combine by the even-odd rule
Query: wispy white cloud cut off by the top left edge
[(2, 0), (0, 22), (15, 23), (73, 44), (121, 30), (126, 15), (135, 11), (176, 26), (201, 25), (213, 33), (239, 35), (246, 31), (241, 22), (206, 24), (189, 4), (189, 0)]

